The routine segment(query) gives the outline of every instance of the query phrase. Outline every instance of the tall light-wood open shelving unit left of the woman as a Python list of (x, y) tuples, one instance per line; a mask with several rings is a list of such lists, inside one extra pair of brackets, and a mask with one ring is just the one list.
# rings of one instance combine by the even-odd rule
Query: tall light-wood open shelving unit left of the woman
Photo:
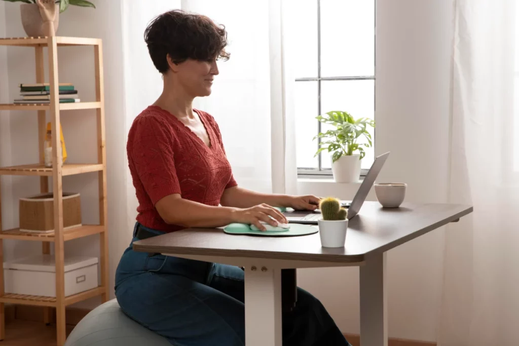
[[(49, 177), (52, 178), (52, 192), (54, 195), (54, 232), (45, 234), (21, 232), (19, 229), (0, 231), (0, 262), (3, 258), (3, 240), (26, 240), (42, 242), (42, 252), (50, 254), (50, 243), (54, 243), (54, 256), (56, 259), (56, 297), (27, 296), (6, 294), (4, 289), (3, 270), (0, 270), (0, 340), (5, 336), (4, 304), (20, 304), (46, 307), (44, 320), (50, 322), (50, 310), (56, 309), (57, 319), (57, 344), (65, 343), (65, 307), (76, 302), (101, 296), (102, 302), (108, 299), (107, 285), (110, 282), (108, 276), (108, 233), (107, 204), (106, 204), (106, 153), (105, 153), (105, 124), (104, 124), (104, 91), (103, 91), (103, 49), (102, 41), (98, 38), (83, 37), (20, 37), (0, 38), (2, 46), (31, 47), (35, 50), (36, 82), (44, 80), (44, 47), (48, 54), (49, 84), (51, 91), (50, 104), (0, 104), (2, 110), (35, 110), (38, 117), (38, 143), (39, 162), (29, 165), (1, 167), (2, 175), (27, 175), (39, 176), (40, 192), (49, 192)], [(78, 103), (59, 103), (58, 99), (58, 49), (59, 46), (93, 46), (95, 64), (95, 101)], [(59, 135), (60, 114), (62, 110), (94, 109), (97, 116), (97, 146), (98, 162), (86, 164), (55, 164), (61, 160), (61, 142)], [(52, 130), (52, 168), (44, 167), (44, 139), (46, 133), (46, 112), (50, 113)], [(2, 116), (0, 114), (0, 116)], [(63, 198), (62, 177), (65, 175), (98, 172), (99, 181), (99, 225), (83, 225), (72, 229), (63, 229)], [(0, 191), (0, 206), (1, 206)], [(2, 215), (0, 213), (0, 226)], [(72, 239), (99, 234), (100, 236), (100, 267), (101, 284), (99, 287), (81, 292), (73, 296), (64, 295), (64, 242)], [(0, 342), (1, 346), (1, 342)]]

